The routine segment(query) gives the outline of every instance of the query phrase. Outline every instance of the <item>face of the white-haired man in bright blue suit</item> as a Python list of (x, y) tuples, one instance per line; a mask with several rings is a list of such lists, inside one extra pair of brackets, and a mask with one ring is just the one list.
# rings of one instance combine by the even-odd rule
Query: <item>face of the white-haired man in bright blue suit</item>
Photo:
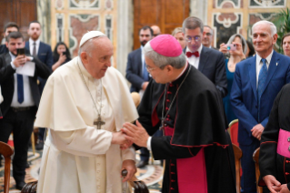
[(270, 54), (276, 40), (277, 35), (271, 35), (271, 28), (268, 24), (256, 25), (253, 29), (253, 45), (259, 56)]

